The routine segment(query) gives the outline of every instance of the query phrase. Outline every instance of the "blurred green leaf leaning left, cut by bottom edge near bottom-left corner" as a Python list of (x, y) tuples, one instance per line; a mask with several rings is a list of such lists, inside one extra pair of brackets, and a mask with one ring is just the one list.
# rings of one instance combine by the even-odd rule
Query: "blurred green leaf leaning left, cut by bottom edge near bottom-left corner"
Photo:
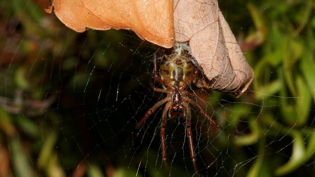
[(13, 138), (10, 140), (10, 149), (12, 153), (12, 165), (14, 172), (18, 177), (29, 177), (37, 176), (35, 171), (32, 168), (29, 157), (22, 148), (22, 143), (19, 142), (18, 138)]

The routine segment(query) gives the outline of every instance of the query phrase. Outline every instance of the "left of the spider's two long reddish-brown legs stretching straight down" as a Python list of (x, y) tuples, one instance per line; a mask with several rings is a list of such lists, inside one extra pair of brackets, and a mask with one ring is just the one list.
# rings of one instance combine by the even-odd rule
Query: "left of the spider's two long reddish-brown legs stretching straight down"
[(162, 113), (162, 121), (161, 121), (161, 130), (160, 130), (160, 136), (161, 136), (161, 146), (162, 146), (162, 158), (165, 165), (166, 170), (171, 174), (169, 167), (166, 162), (166, 146), (165, 146), (165, 128), (166, 128), (166, 116), (169, 108), (173, 105), (173, 102), (170, 100), (166, 103), (165, 108)]

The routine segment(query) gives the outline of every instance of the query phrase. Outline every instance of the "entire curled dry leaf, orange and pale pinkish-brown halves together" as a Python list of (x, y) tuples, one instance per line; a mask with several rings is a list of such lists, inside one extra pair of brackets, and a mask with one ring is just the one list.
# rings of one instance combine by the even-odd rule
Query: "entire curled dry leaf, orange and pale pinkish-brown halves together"
[(53, 0), (47, 11), (52, 8), (66, 26), (78, 32), (86, 27), (131, 29), (165, 48), (189, 41), (192, 56), (212, 81), (202, 87), (239, 96), (254, 77), (217, 0)]

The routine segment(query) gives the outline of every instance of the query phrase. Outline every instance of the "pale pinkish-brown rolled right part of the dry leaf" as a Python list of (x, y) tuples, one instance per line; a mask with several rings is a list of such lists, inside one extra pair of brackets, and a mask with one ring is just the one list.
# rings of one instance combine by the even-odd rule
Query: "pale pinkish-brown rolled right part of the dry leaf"
[(253, 78), (253, 70), (245, 60), (216, 0), (175, 0), (174, 27), (175, 41), (189, 41), (192, 55), (206, 77), (215, 79), (211, 86), (205, 87), (237, 91), (238, 96), (247, 89)]

